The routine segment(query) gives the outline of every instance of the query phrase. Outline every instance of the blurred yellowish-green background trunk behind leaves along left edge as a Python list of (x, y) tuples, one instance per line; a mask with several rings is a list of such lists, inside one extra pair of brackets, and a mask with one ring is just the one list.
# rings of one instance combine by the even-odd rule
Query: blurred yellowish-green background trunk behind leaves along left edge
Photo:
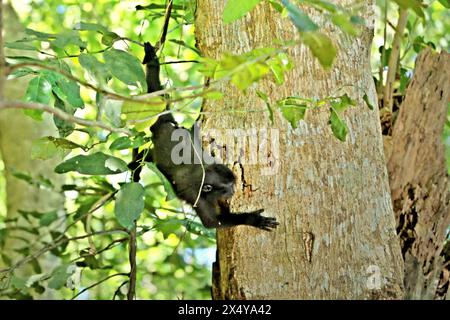
[[(4, 14), (5, 40), (14, 41), (22, 38), (23, 27), (10, 4), (4, 5)], [(29, 55), (29, 52), (18, 52), (15, 50), (14, 52), (7, 51), (6, 54)], [(5, 97), (10, 100), (22, 99), (27, 88), (27, 82), (28, 79), (26, 77), (7, 80), (5, 83)], [(40, 189), (38, 186), (30, 185), (13, 175), (15, 171), (28, 173), (35, 178), (42, 175), (58, 188), (63, 182), (63, 177), (53, 172), (58, 160), (42, 161), (31, 160), (30, 158), (33, 140), (57, 134), (53, 120), (48, 115), (44, 117), (42, 122), (37, 122), (25, 116), (21, 111), (2, 110), (0, 112), (0, 153), (5, 164), (6, 173), (7, 217), (11, 219), (19, 217), (17, 222), (19, 227), (26, 227), (29, 224), (27, 220), (20, 217), (19, 209), (46, 212), (64, 208), (64, 196), (59, 192)], [(38, 222), (36, 221), (36, 223)], [(33, 241), (33, 236), (28, 232), (20, 230), (10, 231), (6, 244), (4, 248), (1, 248), (1, 251), (3, 254), (13, 258), (13, 261), (16, 260), (15, 258), (18, 255), (14, 252), (14, 249), (30, 245), (29, 242), (24, 243), (24, 240), (17, 239), (15, 236)], [(46, 261), (49, 262), (51, 260)], [(50, 264), (52, 263), (54, 262), (50, 262)], [(1, 267), (2, 261), (0, 259)]]

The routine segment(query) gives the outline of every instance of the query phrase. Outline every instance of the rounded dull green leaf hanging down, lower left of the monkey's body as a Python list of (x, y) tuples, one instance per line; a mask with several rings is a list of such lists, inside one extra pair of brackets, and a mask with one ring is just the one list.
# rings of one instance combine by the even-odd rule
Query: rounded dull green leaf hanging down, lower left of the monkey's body
[(144, 210), (144, 188), (138, 182), (125, 183), (116, 196), (114, 213), (120, 225), (127, 229), (134, 226)]

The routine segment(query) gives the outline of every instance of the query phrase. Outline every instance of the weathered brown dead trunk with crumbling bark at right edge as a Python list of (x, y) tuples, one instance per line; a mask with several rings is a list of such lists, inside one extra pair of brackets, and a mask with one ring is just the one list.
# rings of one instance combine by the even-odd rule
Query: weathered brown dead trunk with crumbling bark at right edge
[(449, 99), (450, 54), (424, 50), (392, 130), (388, 162), (409, 299), (439, 298), (448, 291), (441, 253), (450, 223), (442, 143)]

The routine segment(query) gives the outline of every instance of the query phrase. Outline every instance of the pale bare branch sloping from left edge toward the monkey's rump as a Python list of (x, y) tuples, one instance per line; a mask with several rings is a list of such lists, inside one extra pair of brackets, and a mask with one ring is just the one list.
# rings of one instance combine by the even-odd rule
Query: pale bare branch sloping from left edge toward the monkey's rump
[(108, 130), (110, 132), (123, 133), (128, 136), (131, 136), (131, 132), (127, 129), (123, 128), (115, 128), (108, 126), (99, 121), (91, 121), (85, 120), (82, 118), (75, 117), (69, 113), (62, 111), (61, 109), (52, 108), (51, 106), (36, 103), (36, 102), (23, 102), (23, 101), (1, 101), (0, 102), (0, 110), (2, 109), (29, 109), (29, 110), (40, 110), (44, 112), (48, 112), (53, 114), (55, 117), (60, 118), (61, 120), (76, 123), (85, 127), (97, 127), (101, 129)]

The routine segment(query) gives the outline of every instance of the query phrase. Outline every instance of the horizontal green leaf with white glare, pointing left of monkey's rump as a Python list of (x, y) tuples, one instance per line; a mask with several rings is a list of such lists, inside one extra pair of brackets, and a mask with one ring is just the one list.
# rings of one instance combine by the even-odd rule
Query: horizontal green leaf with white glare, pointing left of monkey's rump
[(87, 175), (107, 175), (117, 174), (127, 171), (125, 161), (97, 152), (91, 155), (78, 155), (70, 158), (55, 168), (56, 173), (66, 173), (76, 171)]

